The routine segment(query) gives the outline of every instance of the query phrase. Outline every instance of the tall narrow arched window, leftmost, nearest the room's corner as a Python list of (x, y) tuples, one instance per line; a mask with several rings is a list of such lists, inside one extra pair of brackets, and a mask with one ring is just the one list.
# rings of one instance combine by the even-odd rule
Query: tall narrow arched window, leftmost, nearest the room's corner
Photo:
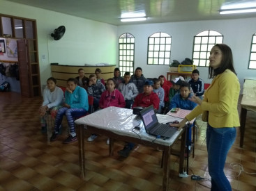
[(134, 71), (134, 45), (135, 38), (130, 33), (123, 33), (119, 37), (119, 69), (121, 76), (125, 72), (130, 72), (130, 75)]

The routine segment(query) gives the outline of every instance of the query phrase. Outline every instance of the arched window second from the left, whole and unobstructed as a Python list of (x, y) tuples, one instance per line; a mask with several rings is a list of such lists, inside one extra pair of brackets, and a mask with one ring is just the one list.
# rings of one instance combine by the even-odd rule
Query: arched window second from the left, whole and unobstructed
[(154, 33), (148, 40), (148, 65), (170, 65), (172, 37)]

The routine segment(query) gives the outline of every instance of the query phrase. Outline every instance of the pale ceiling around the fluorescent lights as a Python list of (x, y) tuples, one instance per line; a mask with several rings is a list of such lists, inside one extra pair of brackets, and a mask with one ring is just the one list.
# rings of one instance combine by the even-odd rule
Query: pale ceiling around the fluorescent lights
[[(256, 13), (220, 15), (223, 4), (241, 3), (238, 0), (8, 0), (53, 10), (68, 15), (92, 19), (116, 26), (183, 22), (209, 19), (256, 17)], [(244, 0), (243, 0), (244, 2)], [(248, 1), (246, 1), (248, 2)], [(255, 2), (255, 0), (250, 0)], [(144, 22), (120, 22), (121, 13), (146, 13)]]

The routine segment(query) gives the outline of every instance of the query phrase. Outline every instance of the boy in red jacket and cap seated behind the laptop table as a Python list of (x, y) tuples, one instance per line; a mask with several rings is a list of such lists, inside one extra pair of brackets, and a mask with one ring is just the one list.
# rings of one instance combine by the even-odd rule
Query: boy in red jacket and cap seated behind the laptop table
[[(159, 101), (158, 95), (153, 92), (153, 81), (146, 80), (143, 89), (144, 89), (144, 92), (141, 94), (138, 94), (137, 97), (135, 97), (133, 108), (137, 106), (149, 107), (153, 105), (153, 108), (158, 110), (160, 101)], [(119, 155), (123, 157), (128, 157), (130, 154), (130, 151), (133, 150), (134, 145), (135, 144), (132, 142), (126, 143), (123, 149), (118, 151)]]

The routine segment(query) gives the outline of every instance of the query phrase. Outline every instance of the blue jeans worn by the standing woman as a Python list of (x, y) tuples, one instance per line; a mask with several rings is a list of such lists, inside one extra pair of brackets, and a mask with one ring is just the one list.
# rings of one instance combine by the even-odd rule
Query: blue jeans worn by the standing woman
[(231, 185), (224, 174), (227, 153), (236, 139), (236, 128), (213, 128), (206, 130), (208, 168), (211, 176), (212, 191), (231, 191)]

